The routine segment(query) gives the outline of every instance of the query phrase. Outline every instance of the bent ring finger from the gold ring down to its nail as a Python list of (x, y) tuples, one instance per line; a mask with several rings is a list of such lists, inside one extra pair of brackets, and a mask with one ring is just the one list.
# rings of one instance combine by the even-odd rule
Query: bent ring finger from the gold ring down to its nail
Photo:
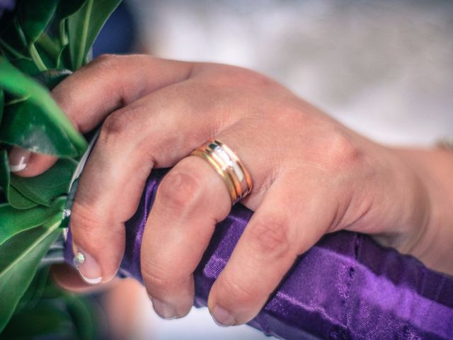
[[(220, 176), (198, 157), (187, 157), (166, 175), (145, 227), (142, 276), (154, 310), (183, 317), (193, 305), (193, 271), (231, 208)], [(175, 256), (178, 254), (178, 256)]]

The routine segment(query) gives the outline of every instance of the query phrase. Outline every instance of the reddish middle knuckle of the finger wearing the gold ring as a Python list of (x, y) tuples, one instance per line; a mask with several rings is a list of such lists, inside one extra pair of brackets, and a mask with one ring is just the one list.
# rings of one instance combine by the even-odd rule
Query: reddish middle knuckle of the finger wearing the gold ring
[(159, 188), (161, 202), (167, 208), (193, 207), (202, 194), (202, 180), (190, 171), (171, 171)]

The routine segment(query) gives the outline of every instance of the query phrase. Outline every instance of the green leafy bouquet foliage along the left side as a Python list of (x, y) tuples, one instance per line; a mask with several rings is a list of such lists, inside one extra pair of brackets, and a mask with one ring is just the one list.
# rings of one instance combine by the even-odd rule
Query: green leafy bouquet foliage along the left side
[[(48, 263), (62, 260), (69, 183), (87, 147), (50, 90), (88, 62), (120, 0), (13, 2), (0, 1), (0, 333), (38, 336), (73, 326), (72, 336), (86, 339), (93, 335), (87, 302), (47, 278)], [(40, 176), (15, 176), (11, 146), (59, 161)]]

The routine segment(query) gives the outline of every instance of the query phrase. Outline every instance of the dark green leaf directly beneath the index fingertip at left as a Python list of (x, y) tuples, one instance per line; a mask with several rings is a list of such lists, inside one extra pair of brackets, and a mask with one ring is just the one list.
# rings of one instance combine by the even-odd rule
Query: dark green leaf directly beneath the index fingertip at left
[(59, 159), (39, 176), (20, 177), (11, 174), (11, 186), (29, 200), (49, 206), (55, 198), (68, 193), (76, 166), (77, 162), (73, 159)]

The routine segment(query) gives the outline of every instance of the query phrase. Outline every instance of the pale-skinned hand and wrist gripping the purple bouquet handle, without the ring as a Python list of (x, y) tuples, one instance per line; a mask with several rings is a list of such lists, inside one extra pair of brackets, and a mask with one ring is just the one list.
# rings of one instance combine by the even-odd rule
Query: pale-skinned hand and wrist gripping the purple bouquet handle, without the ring
[[(453, 152), (386, 147), (345, 128), (255, 72), (220, 64), (104, 56), (52, 91), (81, 132), (103, 122), (71, 215), (74, 251), (88, 280), (111, 280), (151, 169), (173, 166), (144, 232), (142, 275), (156, 312), (183, 317), (193, 305), (193, 271), (229, 193), (190, 152), (215, 137), (242, 159), (255, 211), (208, 305), (217, 322), (248, 322), (303, 254), (328, 232), (348, 229), (453, 274)], [(25, 158), (23, 158), (25, 156)], [(23, 160), (35, 176), (55, 159)], [(24, 163), (23, 162), (23, 163)], [(73, 277), (55, 276), (81, 289)]]

